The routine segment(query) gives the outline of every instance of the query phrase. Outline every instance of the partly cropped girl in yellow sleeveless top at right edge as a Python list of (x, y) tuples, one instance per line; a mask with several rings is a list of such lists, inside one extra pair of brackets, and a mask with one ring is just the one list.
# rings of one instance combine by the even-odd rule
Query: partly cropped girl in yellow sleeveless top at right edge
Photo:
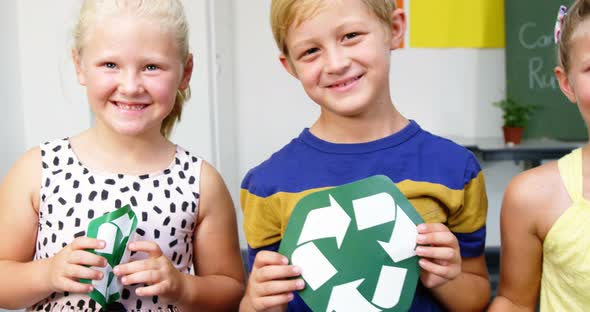
[[(590, 0), (560, 9), (562, 92), (590, 128)], [(564, 15), (565, 14), (565, 15)], [(590, 144), (515, 177), (502, 204), (499, 296), (490, 311), (590, 309)]]

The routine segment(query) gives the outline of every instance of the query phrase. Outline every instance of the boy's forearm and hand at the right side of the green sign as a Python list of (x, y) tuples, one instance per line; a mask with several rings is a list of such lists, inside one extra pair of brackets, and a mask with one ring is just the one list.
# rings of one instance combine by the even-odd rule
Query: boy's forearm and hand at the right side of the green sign
[(490, 298), (484, 256), (461, 257), (455, 235), (441, 223), (418, 226), (420, 280), (449, 311), (482, 311)]

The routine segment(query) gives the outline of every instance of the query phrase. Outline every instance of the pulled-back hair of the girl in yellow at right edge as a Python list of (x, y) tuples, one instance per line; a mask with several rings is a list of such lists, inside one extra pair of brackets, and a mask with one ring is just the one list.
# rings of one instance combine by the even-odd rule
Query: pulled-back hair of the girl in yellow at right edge
[(558, 42), (557, 62), (564, 71), (569, 72), (571, 65), (570, 51), (572, 37), (578, 26), (590, 16), (590, 0), (576, 0), (567, 10), (561, 26), (561, 35)]

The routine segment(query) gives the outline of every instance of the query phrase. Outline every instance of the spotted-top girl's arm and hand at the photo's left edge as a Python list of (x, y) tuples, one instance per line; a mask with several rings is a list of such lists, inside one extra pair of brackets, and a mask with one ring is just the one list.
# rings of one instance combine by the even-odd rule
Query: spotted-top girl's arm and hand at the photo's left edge
[(57, 255), (32, 261), (37, 239), (41, 152), (30, 150), (16, 162), (0, 185), (0, 307), (29, 307), (53, 292), (89, 292), (79, 278), (97, 279), (105, 260), (84, 251), (99, 242), (80, 237)]

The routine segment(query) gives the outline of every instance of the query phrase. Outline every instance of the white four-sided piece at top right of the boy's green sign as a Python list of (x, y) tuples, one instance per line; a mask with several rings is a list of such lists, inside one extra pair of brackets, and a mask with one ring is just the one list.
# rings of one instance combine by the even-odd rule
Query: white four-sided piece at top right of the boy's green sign
[(379, 193), (352, 201), (359, 231), (395, 220), (395, 201), (388, 193)]

